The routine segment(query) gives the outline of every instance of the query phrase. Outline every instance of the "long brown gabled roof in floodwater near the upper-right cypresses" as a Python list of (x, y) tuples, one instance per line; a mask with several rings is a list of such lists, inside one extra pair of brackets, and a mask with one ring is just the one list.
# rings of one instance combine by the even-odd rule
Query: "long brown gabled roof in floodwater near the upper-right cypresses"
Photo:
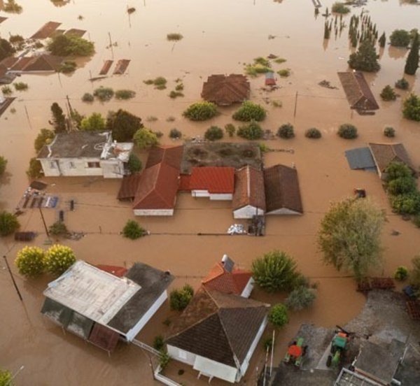
[(356, 110), (377, 110), (379, 108), (363, 72), (339, 72), (338, 77), (351, 108)]

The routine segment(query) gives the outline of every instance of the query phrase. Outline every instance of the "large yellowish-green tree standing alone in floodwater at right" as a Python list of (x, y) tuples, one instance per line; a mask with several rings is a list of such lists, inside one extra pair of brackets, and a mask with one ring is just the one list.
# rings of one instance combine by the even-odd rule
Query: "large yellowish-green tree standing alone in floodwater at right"
[(318, 245), (323, 261), (337, 270), (351, 271), (357, 280), (381, 262), (384, 212), (369, 199), (332, 203), (321, 221)]

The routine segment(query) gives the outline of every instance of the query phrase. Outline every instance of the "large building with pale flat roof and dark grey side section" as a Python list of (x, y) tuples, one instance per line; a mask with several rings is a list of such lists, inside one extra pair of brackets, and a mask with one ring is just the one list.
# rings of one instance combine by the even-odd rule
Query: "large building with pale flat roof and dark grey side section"
[[(113, 267), (115, 270), (116, 267)], [(78, 260), (43, 292), (41, 313), (109, 352), (132, 341), (167, 299), (174, 278), (143, 263), (124, 276)]]

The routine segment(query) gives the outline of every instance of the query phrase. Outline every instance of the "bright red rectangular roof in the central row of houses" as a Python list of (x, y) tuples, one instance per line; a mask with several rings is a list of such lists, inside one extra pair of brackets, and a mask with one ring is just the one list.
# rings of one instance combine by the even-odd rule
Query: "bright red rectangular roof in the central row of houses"
[(204, 166), (191, 171), (189, 190), (208, 190), (209, 193), (233, 193), (235, 169), (224, 166)]

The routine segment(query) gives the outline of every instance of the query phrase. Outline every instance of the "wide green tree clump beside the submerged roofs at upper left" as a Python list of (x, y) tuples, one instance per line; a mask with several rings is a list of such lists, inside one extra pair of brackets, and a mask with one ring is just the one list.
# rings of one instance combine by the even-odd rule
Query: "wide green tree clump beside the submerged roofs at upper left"
[(56, 35), (48, 44), (48, 50), (57, 56), (90, 56), (94, 53), (94, 44), (76, 35)]

